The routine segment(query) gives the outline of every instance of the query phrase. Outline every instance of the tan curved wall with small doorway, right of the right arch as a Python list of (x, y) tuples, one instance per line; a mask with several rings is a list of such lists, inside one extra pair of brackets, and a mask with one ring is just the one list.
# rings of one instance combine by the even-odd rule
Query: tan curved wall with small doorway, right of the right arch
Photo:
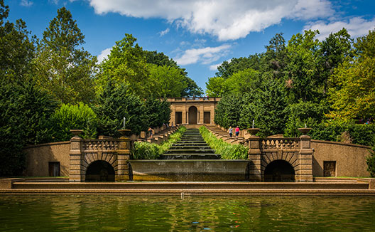
[(325, 162), (336, 163), (335, 174), (332, 176), (369, 176), (366, 157), (370, 154), (370, 147), (322, 140), (312, 140), (311, 147), (314, 149), (314, 176), (324, 176)]

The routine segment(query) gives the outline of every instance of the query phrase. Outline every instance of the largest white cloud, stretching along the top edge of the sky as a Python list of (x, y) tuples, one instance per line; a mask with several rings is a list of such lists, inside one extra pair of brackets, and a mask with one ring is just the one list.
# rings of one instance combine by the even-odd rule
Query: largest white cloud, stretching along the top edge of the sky
[(208, 33), (219, 41), (244, 38), (282, 19), (312, 20), (332, 16), (328, 0), (89, 0), (97, 14), (115, 12), (138, 18), (167, 19), (192, 33)]

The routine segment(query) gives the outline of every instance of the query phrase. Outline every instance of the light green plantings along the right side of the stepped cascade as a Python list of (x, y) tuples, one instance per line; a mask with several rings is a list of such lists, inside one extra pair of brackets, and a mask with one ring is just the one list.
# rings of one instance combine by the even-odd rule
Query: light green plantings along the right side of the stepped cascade
[(205, 126), (200, 127), (200, 133), (207, 144), (220, 154), (222, 159), (247, 159), (248, 149), (242, 144), (228, 144), (218, 139), (207, 130)]

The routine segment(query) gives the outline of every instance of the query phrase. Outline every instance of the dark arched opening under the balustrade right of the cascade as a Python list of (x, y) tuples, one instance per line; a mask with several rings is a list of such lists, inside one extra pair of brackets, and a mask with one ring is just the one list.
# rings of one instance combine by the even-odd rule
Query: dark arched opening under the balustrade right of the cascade
[(295, 172), (285, 160), (275, 160), (264, 170), (264, 181), (295, 181)]

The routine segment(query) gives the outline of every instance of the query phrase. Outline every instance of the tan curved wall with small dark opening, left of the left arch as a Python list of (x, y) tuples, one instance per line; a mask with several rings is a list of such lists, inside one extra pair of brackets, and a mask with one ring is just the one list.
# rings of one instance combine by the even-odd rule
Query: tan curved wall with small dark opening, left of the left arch
[(38, 144), (24, 149), (26, 153), (25, 176), (49, 176), (49, 162), (60, 162), (60, 176), (69, 176), (70, 141)]

